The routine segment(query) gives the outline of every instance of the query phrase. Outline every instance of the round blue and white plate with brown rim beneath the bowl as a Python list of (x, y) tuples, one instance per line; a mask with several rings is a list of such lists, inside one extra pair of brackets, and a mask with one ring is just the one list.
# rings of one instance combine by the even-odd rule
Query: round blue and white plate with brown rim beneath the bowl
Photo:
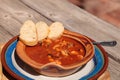
[(76, 73), (65, 77), (48, 77), (40, 75), (22, 62), (15, 53), (17, 37), (11, 39), (3, 48), (2, 64), (12, 77), (18, 80), (88, 80), (97, 79), (107, 68), (108, 58), (101, 46), (95, 46), (95, 55), (85, 66)]

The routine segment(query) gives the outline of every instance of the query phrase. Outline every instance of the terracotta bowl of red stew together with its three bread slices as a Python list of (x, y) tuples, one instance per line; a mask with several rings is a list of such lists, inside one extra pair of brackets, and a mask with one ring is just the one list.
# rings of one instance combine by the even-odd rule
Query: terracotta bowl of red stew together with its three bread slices
[[(20, 29), (16, 53), (21, 60), (40, 74), (55, 77), (72, 74), (94, 55), (93, 44), (87, 37), (64, 30), (64, 26), (60, 22), (54, 22), (50, 26), (42, 21), (36, 25), (31, 21), (27, 23), (25, 22), (23, 29)], [(36, 42), (31, 45), (27, 41), (28, 38), (33, 37), (30, 35), (33, 34), (33, 31), (35, 31)], [(21, 39), (21, 36), (24, 35), (25, 37)]]

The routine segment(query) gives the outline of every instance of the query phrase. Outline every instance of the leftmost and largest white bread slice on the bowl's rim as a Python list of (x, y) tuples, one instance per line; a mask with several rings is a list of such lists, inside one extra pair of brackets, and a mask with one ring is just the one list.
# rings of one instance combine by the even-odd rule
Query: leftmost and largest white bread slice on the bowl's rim
[(37, 44), (37, 33), (35, 24), (31, 20), (25, 21), (20, 29), (19, 39), (28, 46), (34, 46)]

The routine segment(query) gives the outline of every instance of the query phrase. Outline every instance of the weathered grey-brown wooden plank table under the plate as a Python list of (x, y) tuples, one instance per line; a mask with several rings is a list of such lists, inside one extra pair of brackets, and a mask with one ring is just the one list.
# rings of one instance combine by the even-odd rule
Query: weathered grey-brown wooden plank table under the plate
[(120, 29), (66, 0), (0, 0), (0, 43), (19, 34), (26, 20), (60, 21), (66, 29), (82, 33), (96, 41), (116, 40), (117, 46), (104, 47), (109, 56), (111, 80), (120, 77)]

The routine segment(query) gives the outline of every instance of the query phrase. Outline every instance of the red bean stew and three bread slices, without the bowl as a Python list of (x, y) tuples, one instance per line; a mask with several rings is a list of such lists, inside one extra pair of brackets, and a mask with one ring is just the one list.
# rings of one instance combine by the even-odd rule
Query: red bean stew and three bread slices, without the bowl
[(19, 37), (27, 45), (26, 54), (38, 63), (70, 65), (82, 60), (85, 54), (83, 45), (64, 36), (63, 32), (64, 27), (60, 22), (54, 22), (48, 27), (45, 22), (40, 21), (35, 26), (29, 20), (21, 27)]

